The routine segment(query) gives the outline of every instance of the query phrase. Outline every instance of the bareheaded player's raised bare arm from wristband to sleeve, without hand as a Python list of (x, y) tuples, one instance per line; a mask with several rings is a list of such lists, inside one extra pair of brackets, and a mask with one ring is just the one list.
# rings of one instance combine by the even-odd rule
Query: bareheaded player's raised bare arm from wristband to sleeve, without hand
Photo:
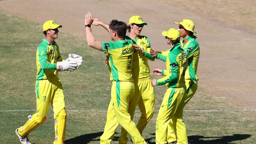
[(100, 42), (96, 41), (96, 39), (93, 37), (93, 33), (91, 32), (90, 27), (85, 28), (85, 36), (87, 39), (87, 43), (91, 48), (95, 48), (97, 50), (102, 51)]

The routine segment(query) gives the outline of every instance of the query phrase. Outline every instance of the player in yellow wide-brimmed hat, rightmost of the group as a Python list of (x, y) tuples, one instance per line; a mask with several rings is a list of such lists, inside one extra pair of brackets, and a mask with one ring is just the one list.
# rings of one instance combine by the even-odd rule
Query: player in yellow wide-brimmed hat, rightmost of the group
[[(186, 99), (184, 102), (184, 107), (187, 102), (194, 96), (197, 91), (197, 65), (199, 61), (200, 49), (199, 44), (195, 39), (197, 38), (195, 35), (198, 35), (194, 29), (195, 24), (192, 20), (184, 19), (181, 22), (174, 22), (174, 24), (179, 24), (180, 37), (183, 38), (181, 41), (181, 47), (184, 49), (187, 55), (188, 67), (185, 72), (185, 83), (186, 83)], [(193, 35), (195, 33), (195, 35)], [(181, 122), (177, 120), (175, 117), (173, 119), (176, 122), (177, 127), (181, 125)], [(173, 122), (171, 121), (171, 122)], [(167, 141), (171, 144), (175, 144), (177, 141), (176, 135), (171, 128), (171, 124), (168, 127), (168, 135)]]

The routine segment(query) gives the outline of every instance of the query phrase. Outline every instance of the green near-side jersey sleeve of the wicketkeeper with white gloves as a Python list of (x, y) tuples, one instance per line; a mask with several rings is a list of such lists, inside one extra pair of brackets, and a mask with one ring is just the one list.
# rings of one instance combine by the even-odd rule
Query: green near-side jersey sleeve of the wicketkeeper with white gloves
[(56, 70), (56, 64), (47, 61), (47, 45), (40, 44), (38, 46), (38, 57), (40, 66), (43, 70)]

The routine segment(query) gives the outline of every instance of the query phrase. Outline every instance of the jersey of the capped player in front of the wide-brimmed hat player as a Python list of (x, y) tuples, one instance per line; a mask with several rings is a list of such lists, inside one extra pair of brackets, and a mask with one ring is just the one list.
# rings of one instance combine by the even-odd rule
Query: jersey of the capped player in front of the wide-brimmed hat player
[(166, 76), (158, 79), (156, 85), (166, 85), (171, 88), (186, 87), (184, 72), (187, 67), (186, 53), (180, 48), (180, 43), (175, 44), (166, 57)]

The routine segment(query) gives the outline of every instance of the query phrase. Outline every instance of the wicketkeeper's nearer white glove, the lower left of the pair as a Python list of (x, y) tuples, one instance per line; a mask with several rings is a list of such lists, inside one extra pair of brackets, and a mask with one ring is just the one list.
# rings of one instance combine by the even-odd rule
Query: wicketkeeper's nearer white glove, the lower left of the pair
[(56, 68), (58, 71), (68, 70), (70, 72), (74, 71), (78, 67), (76, 61), (58, 61), (56, 64)]

